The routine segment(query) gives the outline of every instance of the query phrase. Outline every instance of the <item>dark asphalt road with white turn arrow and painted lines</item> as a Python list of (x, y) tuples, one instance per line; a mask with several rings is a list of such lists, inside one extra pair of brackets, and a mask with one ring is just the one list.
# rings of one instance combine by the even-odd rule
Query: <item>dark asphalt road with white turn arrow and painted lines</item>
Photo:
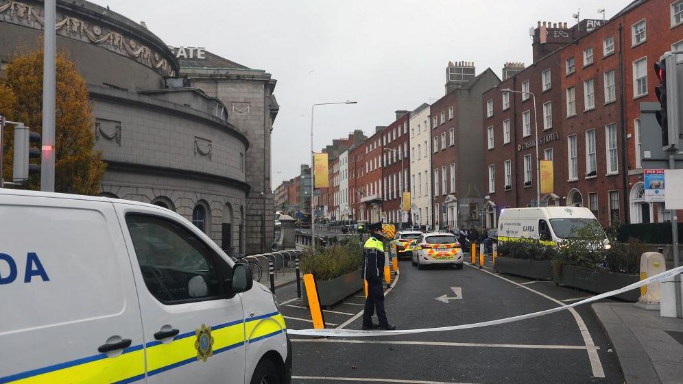
[[(490, 260), (482, 269), (468, 264), (463, 270), (418, 270), (401, 260), (399, 271), (396, 285), (385, 293), (387, 315), (398, 329), (507, 318), (592, 295), (496, 274)], [(296, 285), (278, 288), (276, 295), (289, 329), (311, 328)], [(360, 329), (364, 300), (359, 292), (326, 308), (328, 328)], [(291, 340), (294, 384), (624, 383), (614, 347), (589, 306), (459, 331)]]

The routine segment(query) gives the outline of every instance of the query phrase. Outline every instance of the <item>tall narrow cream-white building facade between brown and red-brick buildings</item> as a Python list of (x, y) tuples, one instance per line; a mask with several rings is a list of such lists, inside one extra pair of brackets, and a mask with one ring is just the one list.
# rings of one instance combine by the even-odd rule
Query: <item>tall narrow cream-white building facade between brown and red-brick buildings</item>
[(431, 227), (431, 122), (429, 104), (420, 105), (410, 116), (410, 214), (416, 227)]

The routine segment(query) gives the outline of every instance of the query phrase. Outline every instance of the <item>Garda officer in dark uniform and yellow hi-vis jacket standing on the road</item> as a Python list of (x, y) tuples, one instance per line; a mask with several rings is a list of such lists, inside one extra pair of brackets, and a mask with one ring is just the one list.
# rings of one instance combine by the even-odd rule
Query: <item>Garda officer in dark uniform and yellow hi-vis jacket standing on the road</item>
[[(389, 324), (387, 313), (384, 311), (384, 290), (382, 289), (382, 277), (384, 275), (384, 245), (382, 241), (382, 223), (376, 222), (366, 226), (372, 233), (363, 246), (363, 278), (368, 281), (368, 298), (363, 311), (363, 329), (381, 329), (393, 331), (396, 329)], [(372, 314), (377, 312), (379, 324), (372, 322)]]

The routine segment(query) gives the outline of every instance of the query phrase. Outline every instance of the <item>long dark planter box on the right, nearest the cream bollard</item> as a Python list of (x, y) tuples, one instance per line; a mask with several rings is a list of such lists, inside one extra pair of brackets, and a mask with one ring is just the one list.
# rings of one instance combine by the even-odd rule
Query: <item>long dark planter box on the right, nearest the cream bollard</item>
[[(589, 292), (604, 293), (623, 288), (639, 281), (637, 274), (606, 272), (576, 266), (562, 266), (553, 276), (555, 283), (568, 285)], [(627, 301), (638, 301), (640, 290), (637, 288), (613, 296)]]

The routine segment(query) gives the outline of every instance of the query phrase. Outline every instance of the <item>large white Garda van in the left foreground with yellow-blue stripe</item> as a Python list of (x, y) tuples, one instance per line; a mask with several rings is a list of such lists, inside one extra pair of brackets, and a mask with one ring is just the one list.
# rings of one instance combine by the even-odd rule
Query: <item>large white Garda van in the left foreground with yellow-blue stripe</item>
[(182, 216), (0, 190), (0, 383), (291, 380), (274, 295)]

